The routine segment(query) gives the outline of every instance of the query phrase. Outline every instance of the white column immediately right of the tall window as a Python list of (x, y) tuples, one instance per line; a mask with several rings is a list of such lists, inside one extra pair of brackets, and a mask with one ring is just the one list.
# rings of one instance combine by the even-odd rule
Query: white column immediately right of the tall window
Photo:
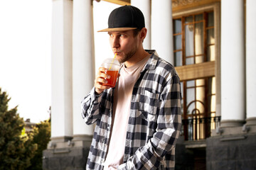
[(243, 0), (221, 1), (221, 126), (245, 120), (245, 39)]

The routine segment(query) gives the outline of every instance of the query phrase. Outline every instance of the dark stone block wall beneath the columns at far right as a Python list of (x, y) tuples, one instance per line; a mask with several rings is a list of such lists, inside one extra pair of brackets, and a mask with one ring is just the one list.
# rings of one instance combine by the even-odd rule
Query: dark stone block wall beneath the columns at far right
[(213, 169), (256, 169), (256, 133), (209, 137), (206, 166)]

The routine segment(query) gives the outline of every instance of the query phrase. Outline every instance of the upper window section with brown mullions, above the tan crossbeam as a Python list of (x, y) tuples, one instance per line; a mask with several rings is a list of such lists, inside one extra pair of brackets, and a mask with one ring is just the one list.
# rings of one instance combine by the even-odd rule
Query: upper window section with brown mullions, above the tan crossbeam
[(174, 19), (175, 66), (215, 61), (213, 11)]

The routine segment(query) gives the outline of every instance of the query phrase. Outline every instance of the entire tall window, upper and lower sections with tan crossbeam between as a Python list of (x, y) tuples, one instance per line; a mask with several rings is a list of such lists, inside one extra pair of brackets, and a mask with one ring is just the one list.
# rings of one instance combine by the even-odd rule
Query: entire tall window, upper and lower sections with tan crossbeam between
[(174, 64), (181, 77), (183, 135), (202, 140), (215, 129), (213, 11), (174, 18)]

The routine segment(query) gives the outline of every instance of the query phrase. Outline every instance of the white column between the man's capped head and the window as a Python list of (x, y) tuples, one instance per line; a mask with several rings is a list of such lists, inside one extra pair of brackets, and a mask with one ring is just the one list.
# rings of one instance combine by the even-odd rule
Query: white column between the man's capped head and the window
[(174, 40), (170, 0), (151, 0), (151, 48), (174, 64)]

